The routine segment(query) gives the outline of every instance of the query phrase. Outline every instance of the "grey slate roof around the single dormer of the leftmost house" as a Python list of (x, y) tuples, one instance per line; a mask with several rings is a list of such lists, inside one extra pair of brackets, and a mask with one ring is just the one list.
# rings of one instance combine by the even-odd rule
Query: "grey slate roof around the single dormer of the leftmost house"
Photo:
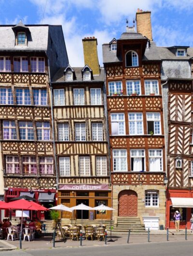
[[(26, 25), (29, 28), (28, 45), (15, 45), (13, 27), (15, 25), (0, 25), (0, 51), (46, 51), (50, 25)], [(55, 29), (61, 29), (55, 26)]]

